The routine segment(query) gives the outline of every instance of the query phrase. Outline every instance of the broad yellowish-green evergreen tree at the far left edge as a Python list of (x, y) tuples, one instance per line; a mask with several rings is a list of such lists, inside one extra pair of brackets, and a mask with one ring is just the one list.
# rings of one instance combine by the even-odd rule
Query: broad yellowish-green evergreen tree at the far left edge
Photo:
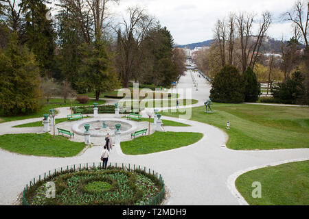
[(18, 44), (16, 32), (0, 54), (0, 105), (5, 115), (29, 114), (40, 107), (39, 70), (34, 54)]

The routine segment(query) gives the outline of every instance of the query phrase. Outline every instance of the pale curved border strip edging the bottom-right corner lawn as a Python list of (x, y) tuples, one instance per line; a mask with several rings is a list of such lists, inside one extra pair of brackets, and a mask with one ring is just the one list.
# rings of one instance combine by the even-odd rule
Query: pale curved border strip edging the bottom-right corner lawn
[(274, 163), (266, 164), (266, 165), (263, 165), (263, 166), (253, 166), (253, 167), (247, 168), (245, 170), (239, 170), (239, 171), (233, 173), (233, 175), (229, 176), (229, 178), (227, 179), (227, 188), (229, 188), (229, 190), (231, 191), (233, 196), (236, 197), (236, 199), (237, 199), (237, 201), (240, 205), (249, 205), (247, 203), (247, 201), (244, 199), (244, 197), (240, 194), (240, 192), (238, 192), (236, 185), (235, 185), (236, 179), (240, 175), (243, 175), (245, 172), (249, 172), (251, 170), (257, 170), (257, 169), (265, 168), (265, 167), (268, 167), (268, 166), (278, 166), (280, 164), (287, 164), (287, 163), (293, 163), (293, 162), (303, 162), (303, 161), (306, 161), (308, 159), (309, 159), (309, 157), (299, 158), (299, 159), (286, 159), (286, 160), (281, 161), (281, 162), (274, 162)]

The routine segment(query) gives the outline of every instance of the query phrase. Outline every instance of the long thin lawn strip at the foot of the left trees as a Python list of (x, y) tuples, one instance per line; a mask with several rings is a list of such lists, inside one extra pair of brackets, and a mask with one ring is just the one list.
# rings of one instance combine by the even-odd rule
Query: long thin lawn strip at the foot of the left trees
[[(93, 105), (95, 103), (95, 100), (89, 100), (86, 104), (78, 103), (77, 101), (73, 102), (73, 106), (81, 106), (81, 105)], [(102, 105), (106, 103), (106, 101), (97, 101), (99, 105)], [(70, 107), (71, 103), (69, 100), (67, 100), (67, 103), (63, 101), (63, 99), (50, 99), (49, 104), (45, 103), (45, 105), (39, 110), (38, 112), (35, 112), (33, 114), (29, 115), (20, 115), (20, 116), (3, 116), (2, 112), (0, 112), (0, 123), (10, 122), (14, 120), (23, 120), (27, 118), (43, 118), (43, 114), (49, 114), (50, 109), (56, 109), (58, 107)]]

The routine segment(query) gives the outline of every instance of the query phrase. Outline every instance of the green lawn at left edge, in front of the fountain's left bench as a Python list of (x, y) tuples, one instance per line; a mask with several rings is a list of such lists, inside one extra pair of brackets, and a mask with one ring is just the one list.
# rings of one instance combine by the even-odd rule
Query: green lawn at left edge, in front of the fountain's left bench
[(0, 136), (1, 149), (23, 155), (73, 157), (84, 149), (84, 143), (71, 142), (67, 137), (49, 133), (10, 134)]

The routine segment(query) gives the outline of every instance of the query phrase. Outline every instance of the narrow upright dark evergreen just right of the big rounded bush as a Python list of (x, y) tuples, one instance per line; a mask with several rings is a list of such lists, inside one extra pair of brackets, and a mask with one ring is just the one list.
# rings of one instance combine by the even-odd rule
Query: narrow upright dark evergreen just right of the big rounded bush
[(244, 101), (258, 101), (261, 92), (261, 85), (253, 70), (248, 67), (242, 75), (244, 77)]

